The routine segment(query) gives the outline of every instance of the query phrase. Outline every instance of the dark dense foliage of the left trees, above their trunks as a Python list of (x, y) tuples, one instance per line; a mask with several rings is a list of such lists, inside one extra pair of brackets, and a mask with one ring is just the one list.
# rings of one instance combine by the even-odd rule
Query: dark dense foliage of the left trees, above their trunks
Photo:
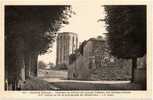
[(22, 37), (28, 48), (44, 53), (52, 46), (55, 32), (68, 24), (70, 6), (6, 6), (5, 36), (7, 40)]

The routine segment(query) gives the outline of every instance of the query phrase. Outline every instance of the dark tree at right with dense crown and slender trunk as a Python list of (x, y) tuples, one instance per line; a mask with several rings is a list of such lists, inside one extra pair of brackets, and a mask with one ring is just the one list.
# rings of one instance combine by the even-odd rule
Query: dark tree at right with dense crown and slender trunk
[(132, 82), (137, 58), (146, 54), (146, 6), (107, 5), (105, 22), (112, 55), (132, 59)]

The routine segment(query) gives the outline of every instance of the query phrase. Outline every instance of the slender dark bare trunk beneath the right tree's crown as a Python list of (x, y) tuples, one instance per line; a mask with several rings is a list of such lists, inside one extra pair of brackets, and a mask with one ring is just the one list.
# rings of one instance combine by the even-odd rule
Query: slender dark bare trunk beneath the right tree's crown
[(131, 75), (131, 83), (135, 81), (135, 69), (137, 67), (137, 58), (132, 58), (132, 75)]

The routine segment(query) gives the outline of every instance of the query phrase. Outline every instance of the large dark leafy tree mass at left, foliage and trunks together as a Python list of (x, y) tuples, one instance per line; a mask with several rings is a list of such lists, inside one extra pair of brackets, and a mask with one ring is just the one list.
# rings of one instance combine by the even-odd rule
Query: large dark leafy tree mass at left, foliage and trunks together
[(5, 76), (14, 88), (18, 80), (37, 75), (38, 55), (52, 45), (71, 13), (69, 5), (5, 7)]

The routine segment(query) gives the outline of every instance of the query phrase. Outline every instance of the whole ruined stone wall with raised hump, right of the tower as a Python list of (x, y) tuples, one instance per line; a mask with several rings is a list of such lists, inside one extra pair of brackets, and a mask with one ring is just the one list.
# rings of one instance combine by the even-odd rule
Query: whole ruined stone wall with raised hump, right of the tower
[[(138, 68), (144, 68), (145, 58), (138, 58)], [(105, 42), (88, 41), (83, 55), (69, 66), (69, 78), (79, 80), (130, 80), (132, 60), (113, 57)], [(139, 70), (142, 71), (142, 70)], [(137, 79), (139, 79), (136, 74)], [(144, 75), (143, 75), (144, 76)]]

